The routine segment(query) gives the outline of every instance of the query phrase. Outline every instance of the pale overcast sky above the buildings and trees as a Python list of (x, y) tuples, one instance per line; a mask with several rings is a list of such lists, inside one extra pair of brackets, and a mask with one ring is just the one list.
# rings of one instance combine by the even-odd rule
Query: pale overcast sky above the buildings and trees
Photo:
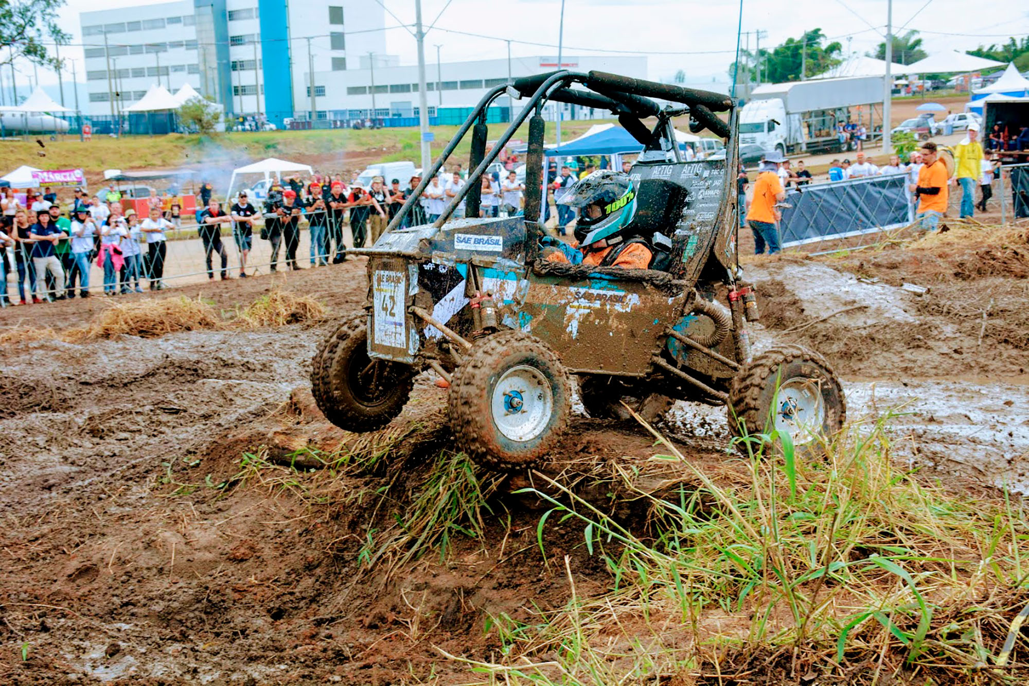
[[(374, 5), (377, 0), (366, 2)], [(384, 2), (400, 22), (414, 23), (414, 0)], [(80, 43), (80, 11), (134, 4), (137, 2), (133, 0), (68, 0), (68, 6), (61, 12), (61, 25), (72, 35), (73, 43)], [(762, 38), (762, 44), (776, 45), (788, 37), (800, 36), (806, 29), (818, 27), (827, 36), (840, 40), (845, 50), (849, 45), (852, 53), (864, 54), (882, 40), (886, 4), (886, 0), (744, 0), (743, 31), (767, 31), (768, 37)], [(442, 11), (436, 24), (439, 29), (554, 45), (512, 42), (514, 57), (557, 55), (560, 8), (561, 0), (451, 0), (449, 5), (447, 0), (424, 0), (423, 19), (428, 24)], [(566, 0), (564, 54), (577, 57), (602, 55), (603, 50), (648, 53), (650, 78), (670, 77), (682, 69), (689, 81), (710, 81), (713, 76), (724, 80), (736, 49), (738, 12), (739, 4), (734, 0)], [(398, 23), (387, 14), (387, 26)], [(981, 43), (1001, 42), (1010, 35), (1029, 34), (1029, 3), (1025, 0), (982, 3), (894, 0), (894, 31), (899, 32), (904, 25), (904, 31), (918, 29), (922, 32), (925, 48), (930, 54), (971, 49)], [(303, 30), (293, 29), (294, 37), (299, 35), (298, 31)], [(387, 50), (399, 55), (401, 64), (416, 62), (412, 35), (398, 28), (388, 30), (386, 36)], [(750, 40), (753, 47), (754, 37)], [(426, 38), (426, 59), (430, 62), (434, 61), (435, 44), (442, 44), (443, 61), (504, 58), (507, 55), (506, 43), (502, 40), (431, 31)], [(62, 57), (78, 61), (81, 80), (81, 47), (63, 48)], [(32, 69), (28, 67), (22, 71), (30, 74)], [(40, 72), (39, 80), (44, 84), (56, 83), (57, 76)]]

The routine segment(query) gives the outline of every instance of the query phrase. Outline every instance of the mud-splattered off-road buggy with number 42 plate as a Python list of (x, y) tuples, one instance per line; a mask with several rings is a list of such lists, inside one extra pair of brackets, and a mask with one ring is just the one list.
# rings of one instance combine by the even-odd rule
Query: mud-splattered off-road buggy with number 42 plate
[[(504, 94), (527, 102), (487, 153), (487, 111)], [(639, 141), (630, 173), (637, 210), (626, 233), (650, 245), (650, 269), (541, 258), (540, 112), (549, 100), (608, 109)], [(729, 112), (729, 124), (715, 112)], [(726, 140), (726, 159), (683, 159), (672, 117), (686, 113), (691, 131)], [(618, 416), (626, 401), (655, 419), (683, 400), (729, 406), (738, 434), (778, 430), (801, 446), (839, 430), (844, 396), (821, 356), (799, 346), (751, 356), (746, 321), (757, 307), (737, 255), (737, 118), (726, 96), (597, 71), (494, 88), (375, 246), (352, 251), (368, 256), (368, 297), (314, 358), (322, 412), (350, 432), (381, 428), (407, 402), (415, 376), (432, 369), (450, 382), (456, 447), (504, 470), (545, 459), (561, 441), (573, 376), (595, 417)], [(526, 119), (524, 216), (477, 218), (482, 175)], [(467, 183), (433, 224), (398, 228), (469, 131)], [(468, 218), (451, 220), (462, 201)]]

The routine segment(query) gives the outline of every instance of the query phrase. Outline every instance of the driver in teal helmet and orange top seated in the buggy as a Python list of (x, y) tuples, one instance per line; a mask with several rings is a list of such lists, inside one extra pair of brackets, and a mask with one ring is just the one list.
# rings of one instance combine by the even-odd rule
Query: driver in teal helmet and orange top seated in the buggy
[(572, 247), (548, 236), (543, 239), (545, 260), (623, 269), (650, 266), (653, 252), (646, 242), (625, 235), (636, 216), (636, 188), (628, 174), (595, 171), (570, 185), (557, 202), (579, 208), (574, 232), (577, 245)]

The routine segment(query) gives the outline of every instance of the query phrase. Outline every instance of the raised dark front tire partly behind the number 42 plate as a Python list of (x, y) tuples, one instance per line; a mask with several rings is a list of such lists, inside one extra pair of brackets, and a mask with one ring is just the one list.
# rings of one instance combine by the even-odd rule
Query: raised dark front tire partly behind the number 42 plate
[(358, 434), (382, 428), (407, 402), (414, 386), (411, 370), (385, 359), (374, 362), (368, 369), (372, 359), (363, 313), (342, 320), (318, 347), (311, 365), (311, 392), (325, 418), (340, 428)]

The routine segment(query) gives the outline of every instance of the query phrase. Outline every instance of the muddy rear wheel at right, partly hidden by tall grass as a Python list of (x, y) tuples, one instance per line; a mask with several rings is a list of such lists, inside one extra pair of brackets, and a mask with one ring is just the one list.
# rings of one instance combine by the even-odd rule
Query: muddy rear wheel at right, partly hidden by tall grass
[(846, 420), (847, 401), (832, 368), (800, 345), (769, 348), (730, 386), (729, 425), (735, 436), (779, 430), (790, 434), (799, 452), (817, 451)]

